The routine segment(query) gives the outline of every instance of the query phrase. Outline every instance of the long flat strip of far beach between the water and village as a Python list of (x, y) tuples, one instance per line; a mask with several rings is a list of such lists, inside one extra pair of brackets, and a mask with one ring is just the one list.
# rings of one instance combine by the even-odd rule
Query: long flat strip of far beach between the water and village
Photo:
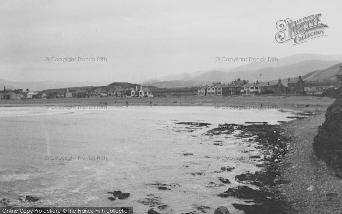
[(65, 98), (0, 100), (0, 107), (36, 107), (43, 105), (107, 105), (107, 106), (218, 106), (263, 107), (325, 112), (335, 99), (299, 95), (256, 95), (231, 97), (152, 97), (152, 98)]

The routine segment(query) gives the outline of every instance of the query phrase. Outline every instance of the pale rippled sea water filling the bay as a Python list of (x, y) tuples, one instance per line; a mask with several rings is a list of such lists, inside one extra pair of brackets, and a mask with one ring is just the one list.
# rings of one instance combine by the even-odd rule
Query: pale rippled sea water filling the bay
[[(261, 160), (249, 158), (260, 150), (234, 134), (205, 133), (224, 123), (278, 124), (293, 113), (184, 106), (0, 107), (0, 201), (10, 201), (0, 205), (133, 207), (137, 214), (151, 208), (214, 213), (226, 206), (231, 214), (243, 214), (232, 204), (246, 202), (217, 194), (241, 185), (235, 175), (261, 169), (256, 167)], [(108, 192), (117, 190), (130, 196), (109, 200)], [(27, 195), (39, 200), (19, 200)]]

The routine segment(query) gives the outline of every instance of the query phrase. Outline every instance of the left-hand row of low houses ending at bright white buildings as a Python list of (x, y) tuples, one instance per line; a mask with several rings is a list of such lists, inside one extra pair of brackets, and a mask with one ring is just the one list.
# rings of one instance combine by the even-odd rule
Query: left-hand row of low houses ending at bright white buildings
[(153, 97), (148, 87), (136, 86), (135, 88), (122, 88), (114, 86), (110, 89), (88, 87), (87, 89), (51, 89), (35, 92), (23, 92), (18, 90), (0, 91), (0, 99), (54, 99), (54, 98), (95, 98), (95, 97)]

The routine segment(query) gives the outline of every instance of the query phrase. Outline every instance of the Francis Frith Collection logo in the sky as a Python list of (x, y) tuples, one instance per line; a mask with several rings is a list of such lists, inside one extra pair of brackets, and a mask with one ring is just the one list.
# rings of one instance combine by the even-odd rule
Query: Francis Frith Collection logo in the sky
[(324, 28), (328, 25), (323, 24), (320, 17), (319, 13), (295, 21), (289, 18), (277, 21), (276, 28), (279, 32), (276, 34), (276, 41), (278, 43), (293, 41), (292, 45), (296, 45), (317, 37), (327, 36)]

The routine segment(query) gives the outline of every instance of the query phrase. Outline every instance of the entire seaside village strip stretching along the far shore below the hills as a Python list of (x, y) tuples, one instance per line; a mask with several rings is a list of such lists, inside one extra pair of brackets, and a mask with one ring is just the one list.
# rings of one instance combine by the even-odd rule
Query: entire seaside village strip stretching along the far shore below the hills
[[(274, 82), (274, 81), (273, 81)], [(231, 83), (213, 83), (188, 88), (157, 88), (132, 83), (112, 83), (108, 86), (70, 87), (30, 91), (29, 89), (6, 89), (0, 91), (1, 100), (17, 99), (57, 99), (57, 98), (102, 98), (102, 97), (176, 97), (176, 96), (253, 96), (258, 94), (307, 94), (320, 95), (328, 89), (342, 86), (342, 66), (333, 83), (305, 83), (301, 76), (288, 78), (286, 81), (250, 83), (248, 80), (237, 79)]]

